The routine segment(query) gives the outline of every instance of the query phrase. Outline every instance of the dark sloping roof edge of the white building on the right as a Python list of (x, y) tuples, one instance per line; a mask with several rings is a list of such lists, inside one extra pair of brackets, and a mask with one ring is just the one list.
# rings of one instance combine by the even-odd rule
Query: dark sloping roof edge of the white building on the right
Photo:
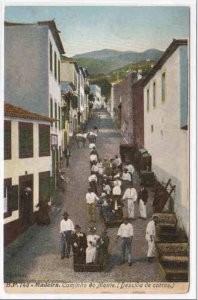
[(175, 50), (179, 46), (188, 45), (187, 39), (173, 39), (172, 43), (169, 45), (169, 47), (166, 49), (166, 51), (162, 54), (161, 58), (157, 61), (157, 63), (154, 65), (154, 67), (151, 69), (151, 71), (148, 73), (148, 75), (145, 77), (144, 85), (146, 85), (149, 80), (155, 75), (155, 73), (161, 69), (163, 64), (167, 61), (167, 59), (175, 52)]

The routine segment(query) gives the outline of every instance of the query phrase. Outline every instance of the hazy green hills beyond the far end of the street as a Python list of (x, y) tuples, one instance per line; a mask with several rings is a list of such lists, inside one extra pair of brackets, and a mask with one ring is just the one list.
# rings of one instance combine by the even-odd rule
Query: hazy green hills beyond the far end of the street
[(103, 49), (78, 54), (75, 55), (73, 59), (75, 59), (80, 66), (87, 68), (91, 76), (95, 76), (106, 75), (129, 64), (142, 61), (157, 61), (162, 53), (163, 52), (158, 49), (148, 49), (144, 52)]

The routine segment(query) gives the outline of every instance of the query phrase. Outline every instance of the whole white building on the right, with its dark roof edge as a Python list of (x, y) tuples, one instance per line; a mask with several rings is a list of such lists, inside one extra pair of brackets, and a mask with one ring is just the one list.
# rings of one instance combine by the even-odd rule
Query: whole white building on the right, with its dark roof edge
[(161, 182), (176, 185), (174, 210), (189, 234), (188, 43), (173, 40), (145, 78), (144, 144)]

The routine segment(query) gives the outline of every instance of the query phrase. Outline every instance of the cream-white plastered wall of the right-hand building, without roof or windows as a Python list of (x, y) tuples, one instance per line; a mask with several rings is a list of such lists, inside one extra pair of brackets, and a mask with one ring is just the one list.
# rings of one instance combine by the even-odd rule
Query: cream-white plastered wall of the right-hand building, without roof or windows
[[(175, 212), (179, 224), (189, 233), (188, 130), (180, 129), (180, 55), (177, 49), (144, 88), (145, 148), (152, 155), (152, 168), (158, 179), (169, 178), (176, 185)], [(166, 74), (166, 97), (161, 100), (161, 75)], [(153, 81), (156, 81), (156, 107), (153, 108)], [(147, 111), (147, 89), (150, 109)], [(153, 126), (153, 132), (151, 131)]]

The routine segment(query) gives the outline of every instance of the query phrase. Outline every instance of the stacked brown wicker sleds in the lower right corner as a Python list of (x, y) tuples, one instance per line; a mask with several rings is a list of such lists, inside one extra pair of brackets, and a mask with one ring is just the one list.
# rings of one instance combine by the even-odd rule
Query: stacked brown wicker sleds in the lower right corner
[(189, 245), (186, 234), (178, 229), (174, 213), (155, 213), (158, 265), (164, 280), (188, 281)]

